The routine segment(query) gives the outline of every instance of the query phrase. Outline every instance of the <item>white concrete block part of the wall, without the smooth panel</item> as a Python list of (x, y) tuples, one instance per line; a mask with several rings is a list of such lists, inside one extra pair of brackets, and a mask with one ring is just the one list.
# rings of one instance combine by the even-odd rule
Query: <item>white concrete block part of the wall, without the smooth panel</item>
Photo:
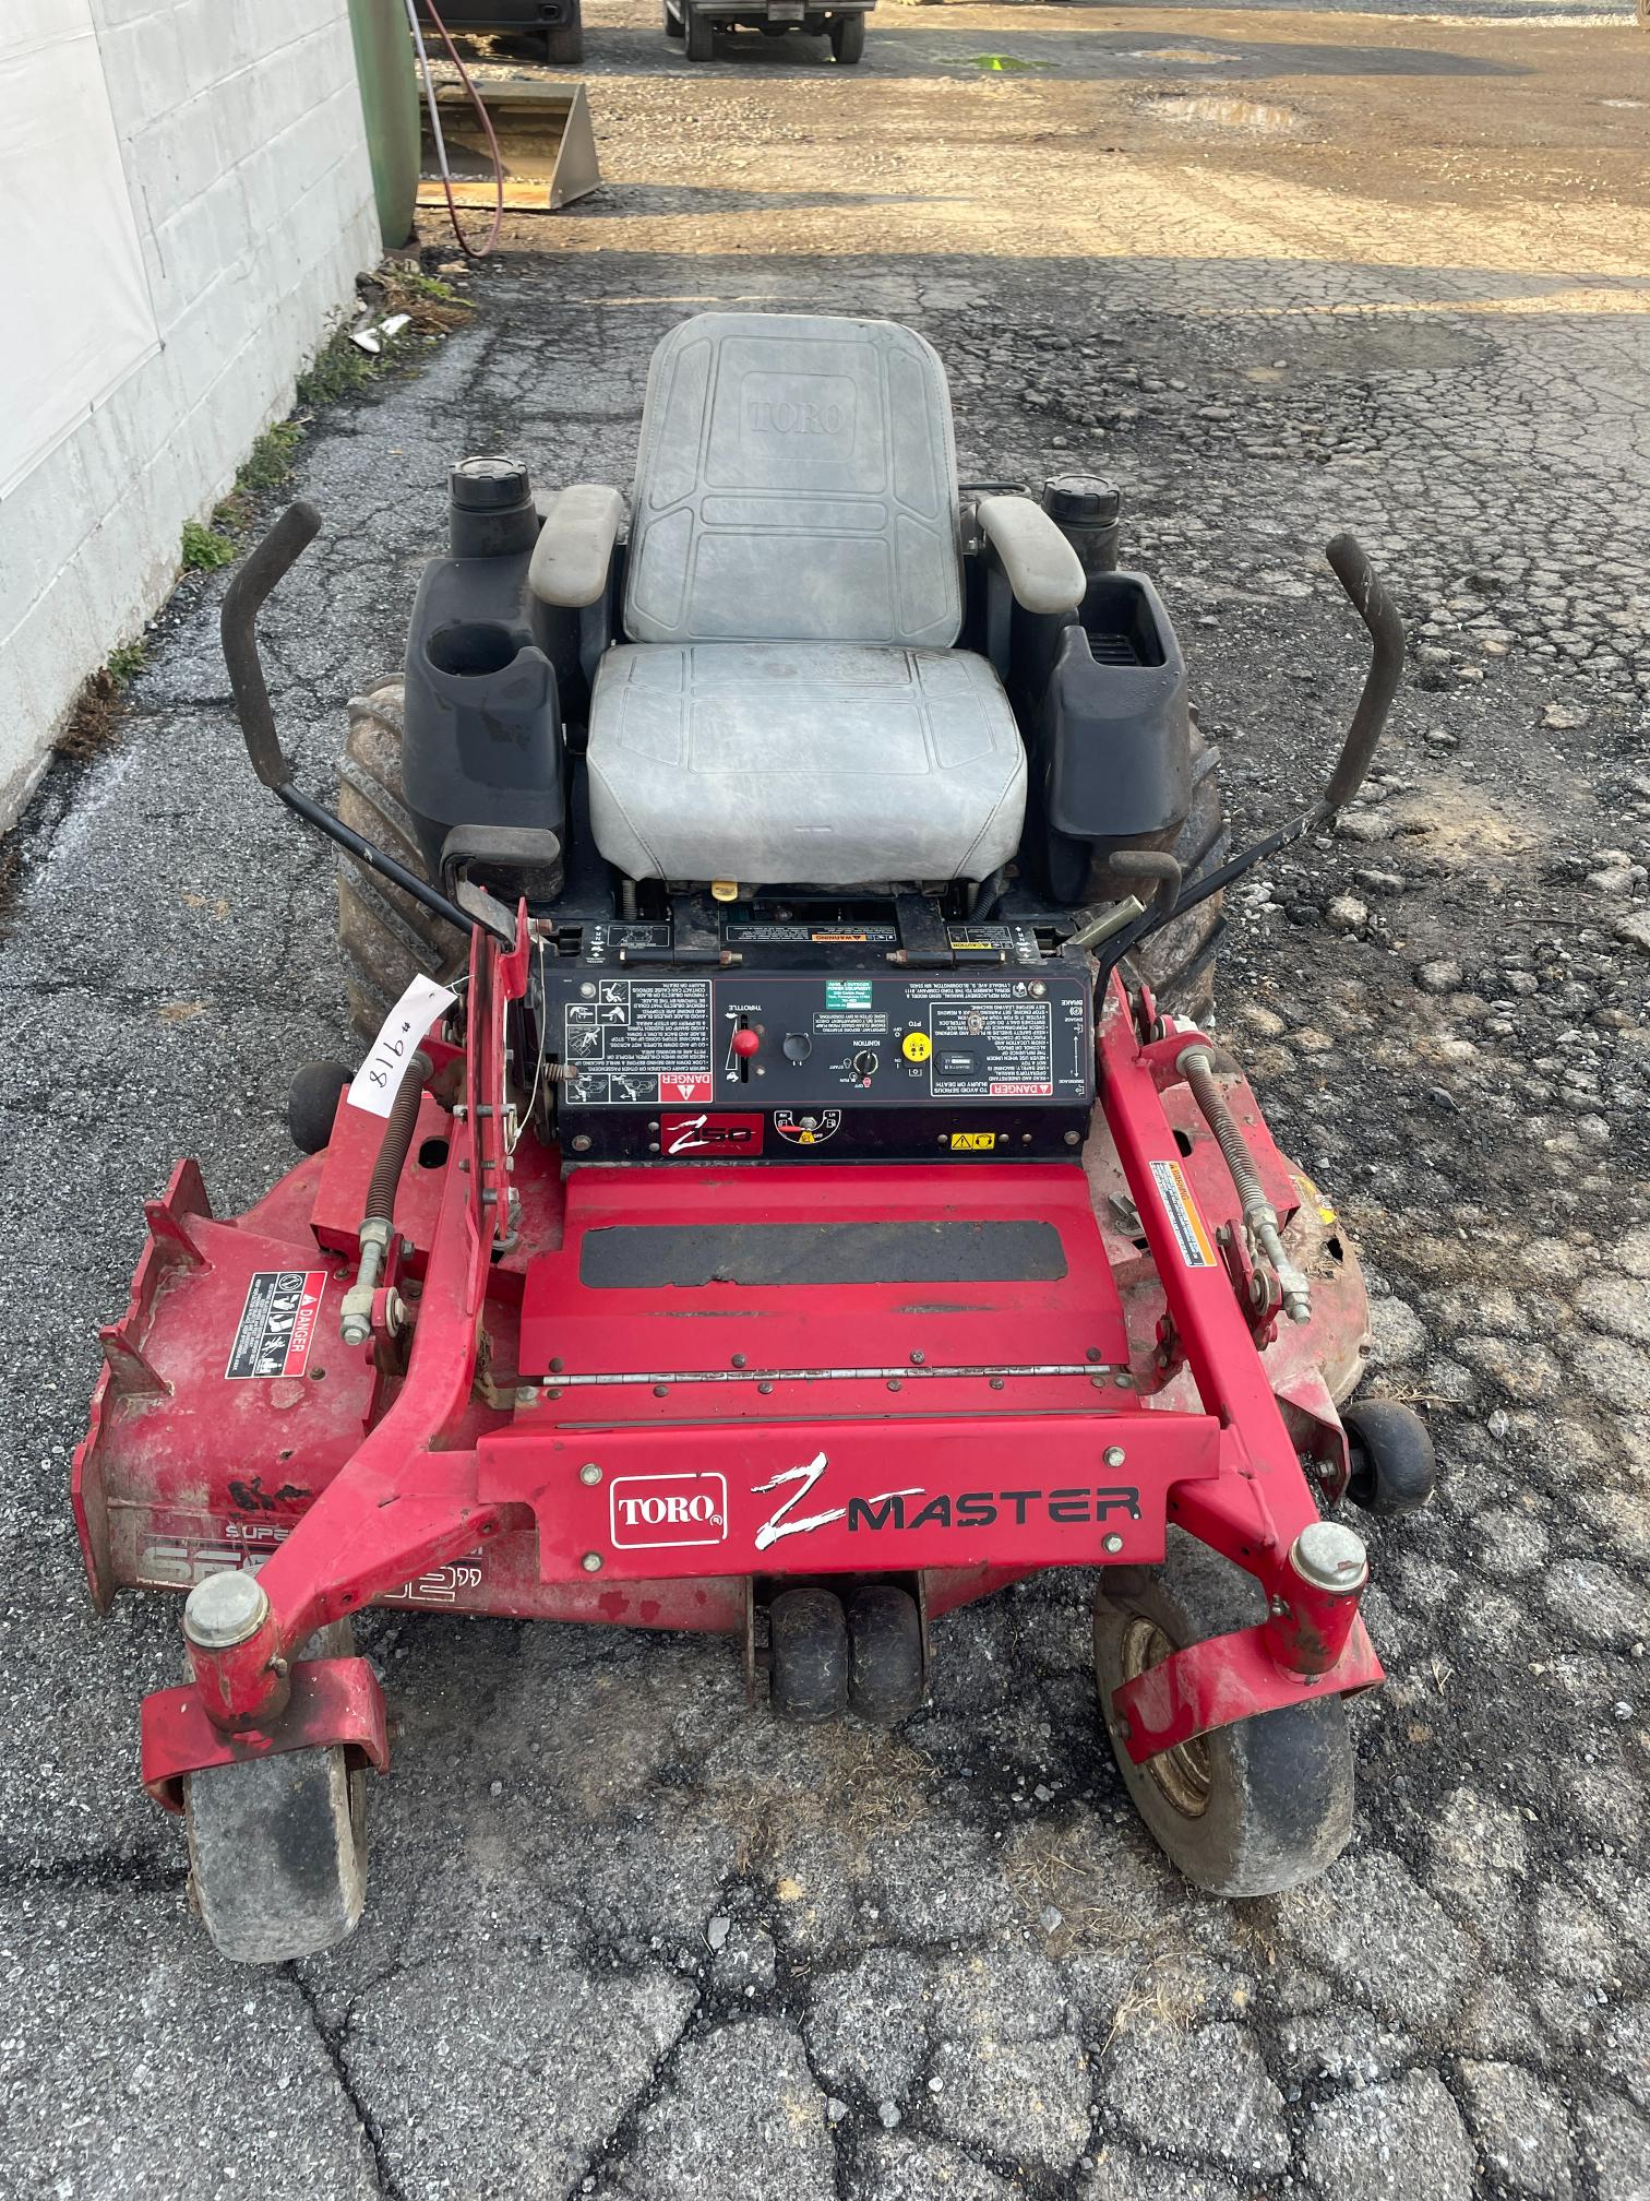
[[(0, 504), (0, 828), (381, 253), (345, 0), (90, 0), (90, 18), (161, 343)], [(73, 247), (53, 310), (95, 315)], [(0, 346), (26, 374), (26, 332)]]

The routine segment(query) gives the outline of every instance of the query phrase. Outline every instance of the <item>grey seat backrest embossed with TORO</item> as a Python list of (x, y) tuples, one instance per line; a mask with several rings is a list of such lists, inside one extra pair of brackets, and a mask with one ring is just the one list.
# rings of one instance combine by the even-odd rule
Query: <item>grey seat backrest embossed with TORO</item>
[(893, 643), (961, 627), (946, 370), (893, 321), (702, 313), (653, 352), (625, 632)]

